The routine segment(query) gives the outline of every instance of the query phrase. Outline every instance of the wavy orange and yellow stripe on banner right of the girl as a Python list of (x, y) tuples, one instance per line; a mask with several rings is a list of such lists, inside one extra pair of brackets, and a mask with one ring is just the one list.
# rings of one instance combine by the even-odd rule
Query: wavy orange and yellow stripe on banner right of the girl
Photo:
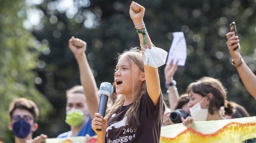
[[(205, 128), (207, 130), (207, 127)], [(203, 134), (195, 131), (192, 127), (187, 128), (176, 137), (161, 136), (161, 143), (169, 142), (202, 142), (210, 139), (211, 142), (224, 141), (233, 142), (231, 140), (237, 138), (235, 142), (242, 142), (245, 139), (256, 137), (256, 123), (237, 123), (231, 122), (226, 124), (220, 130), (212, 134)]]

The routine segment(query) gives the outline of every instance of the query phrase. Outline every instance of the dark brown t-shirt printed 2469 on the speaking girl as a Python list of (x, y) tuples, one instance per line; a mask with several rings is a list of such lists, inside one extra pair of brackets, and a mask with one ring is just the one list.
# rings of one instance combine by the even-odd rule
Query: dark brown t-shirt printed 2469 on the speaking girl
[[(121, 106), (115, 114), (108, 119), (106, 129), (106, 143), (159, 143), (161, 125), (163, 122), (164, 104), (162, 93), (155, 106), (148, 93), (140, 101), (140, 126), (136, 130), (125, 129), (127, 117), (125, 112), (131, 107), (130, 105)], [(114, 116), (115, 115), (115, 116)]]

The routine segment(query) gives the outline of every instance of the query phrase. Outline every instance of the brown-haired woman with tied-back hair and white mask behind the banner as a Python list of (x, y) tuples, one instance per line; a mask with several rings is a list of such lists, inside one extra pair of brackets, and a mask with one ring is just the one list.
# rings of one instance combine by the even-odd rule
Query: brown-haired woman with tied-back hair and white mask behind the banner
[(223, 84), (212, 77), (202, 77), (196, 82), (191, 83), (187, 88), (190, 97), (188, 102), (190, 115), (181, 121), (184, 125), (190, 124), (194, 120), (209, 121), (225, 119), (221, 107), (224, 106), (224, 114), (232, 115), (234, 110), (233, 103), (226, 100), (226, 88)]

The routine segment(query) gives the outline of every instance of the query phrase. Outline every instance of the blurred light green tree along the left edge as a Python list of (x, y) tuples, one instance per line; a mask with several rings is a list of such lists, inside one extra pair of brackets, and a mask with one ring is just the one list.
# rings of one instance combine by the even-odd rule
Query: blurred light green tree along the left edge
[(42, 82), (34, 70), (42, 66), (38, 55), (45, 46), (23, 26), (29, 8), (25, 0), (1, 1), (0, 5), (0, 138), (4, 142), (14, 142), (8, 129), (8, 109), (13, 99), (24, 97), (34, 101), (42, 123), (52, 110), (51, 103), (35, 86)]

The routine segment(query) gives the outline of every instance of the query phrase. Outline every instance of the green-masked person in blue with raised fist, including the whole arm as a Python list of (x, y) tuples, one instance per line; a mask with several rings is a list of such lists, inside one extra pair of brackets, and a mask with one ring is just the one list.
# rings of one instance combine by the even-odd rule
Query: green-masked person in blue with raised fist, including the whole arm
[(86, 42), (72, 37), (69, 48), (75, 55), (80, 71), (82, 86), (75, 86), (67, 90), (67, 106), (65, 122), (71, 130), (62, 133), (57, 138), (71, 136), (96, 135), (91, 126), (94, 114), (98, 112), (99, 96), (96, 81), (85, 55)]

